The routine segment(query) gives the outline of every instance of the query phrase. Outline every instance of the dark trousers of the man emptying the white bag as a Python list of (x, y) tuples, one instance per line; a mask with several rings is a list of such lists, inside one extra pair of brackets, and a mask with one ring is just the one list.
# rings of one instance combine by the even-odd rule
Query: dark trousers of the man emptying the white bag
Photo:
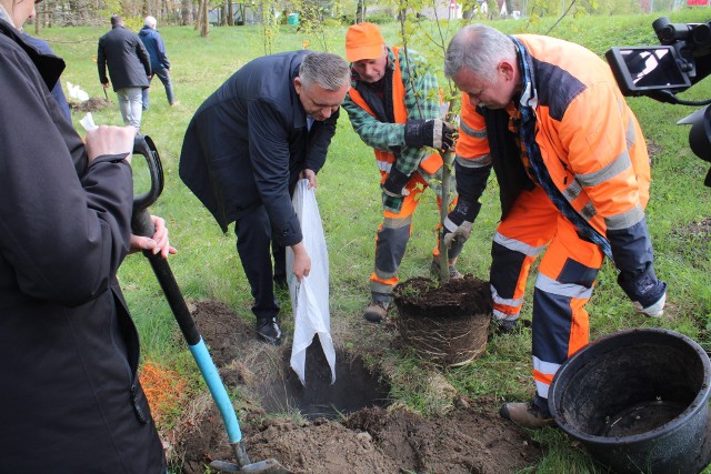
[(271, 224), (267, 210), (260, 205), (241, 216), (236, 225), (237, 253), (254, 297), (252, 313), (258, 320), (276, 317), (279, 304), (274, 297), (271, 260)]

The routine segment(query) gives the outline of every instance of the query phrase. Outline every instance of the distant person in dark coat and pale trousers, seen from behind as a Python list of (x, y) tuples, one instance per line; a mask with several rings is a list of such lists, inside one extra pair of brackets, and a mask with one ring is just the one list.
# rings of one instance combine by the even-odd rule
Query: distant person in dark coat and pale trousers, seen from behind
[(109, 88), (109, 67), (123, 123), (133, 125), (138, 132), (143, 111), (142, 92), (151, 77), (151, 59), (138, 34), (127, 30), (118, 14), (111, 17), (111, 31), (99, 38), (97, 64), (104, 89)]

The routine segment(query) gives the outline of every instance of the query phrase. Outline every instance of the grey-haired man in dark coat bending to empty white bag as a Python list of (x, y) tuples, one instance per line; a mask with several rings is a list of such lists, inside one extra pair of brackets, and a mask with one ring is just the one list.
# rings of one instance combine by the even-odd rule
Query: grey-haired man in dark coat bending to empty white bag
[(198, 109), (180, 153), (180, 178), (223, 232), (236, 222), (237, 250), (249, 280), (258, 337), (278, 344), (270, 242), (290, 246), (291, 272), (311, 260), (291, 205), (299, 178), (316, 186), (350, 85), (346, 61), (296, 51), (247, 63)]

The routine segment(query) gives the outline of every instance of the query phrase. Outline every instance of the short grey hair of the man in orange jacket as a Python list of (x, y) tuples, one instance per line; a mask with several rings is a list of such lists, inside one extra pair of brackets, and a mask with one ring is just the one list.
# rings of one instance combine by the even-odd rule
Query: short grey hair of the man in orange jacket
[(504, 60), (515, 60), (511, 38), (485, 24), (470, 24), (454, 34), (444, 56), (444, 74), (457, 75), (469, 69), (488, 81), (495, 80), (497, 67)]

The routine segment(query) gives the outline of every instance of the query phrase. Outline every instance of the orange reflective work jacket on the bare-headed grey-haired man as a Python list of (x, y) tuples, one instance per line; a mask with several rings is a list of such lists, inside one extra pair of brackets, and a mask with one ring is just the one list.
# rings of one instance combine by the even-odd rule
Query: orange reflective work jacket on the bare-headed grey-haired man
[[(532, 59), (538, 83), (535, 142), (554, 185), (602, 235), (640, 223), (649, 201), (649, 155), (608, 64), (574, 43), (529, 34), (515, 38)], [(509, 128), (515, 132), (517, 108), (512, 104), (508, 112)], [(488, 174), (492, 164), (488, 133), (493, 132), (464, 94), (458, 165)], [(521, 159), (527, 167), (524, 153)], [(475, 190), (477, 199), (481, 192), (483, 186)]]

